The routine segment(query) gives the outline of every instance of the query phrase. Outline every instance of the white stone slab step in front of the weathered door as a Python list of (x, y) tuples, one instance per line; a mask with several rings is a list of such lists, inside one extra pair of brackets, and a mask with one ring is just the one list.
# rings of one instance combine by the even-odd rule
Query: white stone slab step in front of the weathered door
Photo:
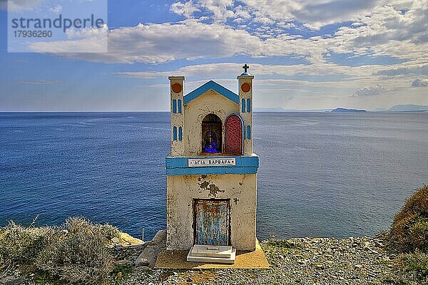
[(188, 253), (187, 261), (234, 264), (236, 249), (232, 247), (195, 244)]

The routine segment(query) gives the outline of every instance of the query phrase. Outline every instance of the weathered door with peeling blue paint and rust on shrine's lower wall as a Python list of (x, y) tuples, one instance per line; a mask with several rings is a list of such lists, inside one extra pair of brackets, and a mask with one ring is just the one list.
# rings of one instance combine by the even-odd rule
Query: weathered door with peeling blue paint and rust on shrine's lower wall
[(195, 200), (195, 244), (229, 245), (229, 200)]

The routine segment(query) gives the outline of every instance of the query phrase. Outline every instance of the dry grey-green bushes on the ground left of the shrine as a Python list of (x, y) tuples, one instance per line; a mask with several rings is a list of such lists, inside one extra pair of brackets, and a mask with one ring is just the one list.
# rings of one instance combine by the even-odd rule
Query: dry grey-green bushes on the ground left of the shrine
[(62, 227), (9, 222), (0, 229), (0, 265), (18, 262), (67, 284), (103, 284), (114, 269), (106, 245), (118, 234), (116, 227), (84, 217), (70, 217)]

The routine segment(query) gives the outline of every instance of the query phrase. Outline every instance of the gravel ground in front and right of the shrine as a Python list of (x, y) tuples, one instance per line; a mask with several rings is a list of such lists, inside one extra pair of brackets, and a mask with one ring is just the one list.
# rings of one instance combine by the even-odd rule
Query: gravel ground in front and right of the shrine
[(304, 238), (262, 242), (270, 269), (168, 271), (136, 267), (116, 284), (391, 284), (394, 254), (382, 239)]

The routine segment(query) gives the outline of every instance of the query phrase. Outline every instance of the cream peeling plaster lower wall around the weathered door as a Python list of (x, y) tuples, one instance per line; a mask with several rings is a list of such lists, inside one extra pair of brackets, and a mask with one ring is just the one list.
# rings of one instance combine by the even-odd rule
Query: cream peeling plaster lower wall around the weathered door
[[(201, 188), (201, 182), (218, 187)], [(230, 199), (230, 242), (238, 251), (255, 250), (257, 175), (168, 175), (167, 249), (193, 246), (193, 199)], [(235, 200), (236, 198), (236, 200)]]

